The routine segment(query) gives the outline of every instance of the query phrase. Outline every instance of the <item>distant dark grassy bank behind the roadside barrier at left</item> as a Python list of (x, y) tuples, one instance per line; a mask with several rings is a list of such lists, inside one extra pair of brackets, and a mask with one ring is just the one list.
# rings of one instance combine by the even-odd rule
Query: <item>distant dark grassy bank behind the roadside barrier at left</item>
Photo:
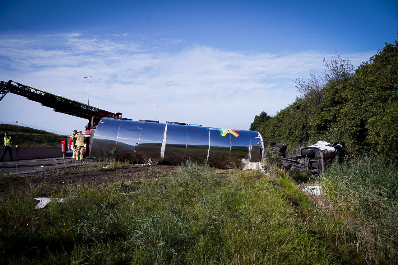
[(49, 133), (26, 126), (0, 124), (0, 132), (2, 132), (3, 137), (5, 131), (8, 131), (8, 134), (12, 137), (14, 147), (17, 144), (20, 147), (60, 146), (61, 141), (66, 140), (66, 135)]

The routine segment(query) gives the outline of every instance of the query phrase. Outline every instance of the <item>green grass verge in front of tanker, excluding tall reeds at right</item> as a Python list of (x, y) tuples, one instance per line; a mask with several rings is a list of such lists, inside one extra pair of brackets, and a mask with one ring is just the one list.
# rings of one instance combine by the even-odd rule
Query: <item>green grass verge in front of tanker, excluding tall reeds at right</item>
[[(34, 210), (34, 197), (66, 200)], [(343, 223), (317, 210), (285, 175), (259, 171), (190, 165), (58, 191), (44, 182), (0, 197), (0, 262), (361, 262), (334, 232)]]

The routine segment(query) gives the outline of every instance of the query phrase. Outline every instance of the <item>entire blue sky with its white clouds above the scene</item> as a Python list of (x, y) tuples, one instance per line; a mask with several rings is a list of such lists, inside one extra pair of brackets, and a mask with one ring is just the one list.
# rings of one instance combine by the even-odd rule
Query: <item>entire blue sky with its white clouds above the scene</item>
[[(86, 102), (91, 75), (90, 105), (231, 129), (289, 105), (293, 80), (335, 51), (359, 65), (398, 33), (397, 1), (3, 1), (0, 13), (1, 80)], [(86, 124), (12, 94), (0, 111)]]

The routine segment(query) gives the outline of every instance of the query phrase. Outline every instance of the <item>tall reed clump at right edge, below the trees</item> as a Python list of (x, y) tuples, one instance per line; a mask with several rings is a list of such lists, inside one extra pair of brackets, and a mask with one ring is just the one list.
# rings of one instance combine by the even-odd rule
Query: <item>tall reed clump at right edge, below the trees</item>
[(378, 156), (334, 163), (320, 179), (328, 201), (345, 218), (365, 260), (398, 258), (398, 168)]

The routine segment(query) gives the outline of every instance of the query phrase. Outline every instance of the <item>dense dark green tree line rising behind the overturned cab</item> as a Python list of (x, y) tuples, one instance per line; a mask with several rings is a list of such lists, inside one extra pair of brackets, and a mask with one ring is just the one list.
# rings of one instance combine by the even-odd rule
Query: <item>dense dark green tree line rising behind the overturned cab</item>
[(336, 55), (327, 70), (298, 78), (300, 96), (269, 117), (256, 115), (250, 129), (265, 140), (297, 145), (341, 142), (352, 155), (379, 154), (398, 159), (398, 41), (356, 70)]

